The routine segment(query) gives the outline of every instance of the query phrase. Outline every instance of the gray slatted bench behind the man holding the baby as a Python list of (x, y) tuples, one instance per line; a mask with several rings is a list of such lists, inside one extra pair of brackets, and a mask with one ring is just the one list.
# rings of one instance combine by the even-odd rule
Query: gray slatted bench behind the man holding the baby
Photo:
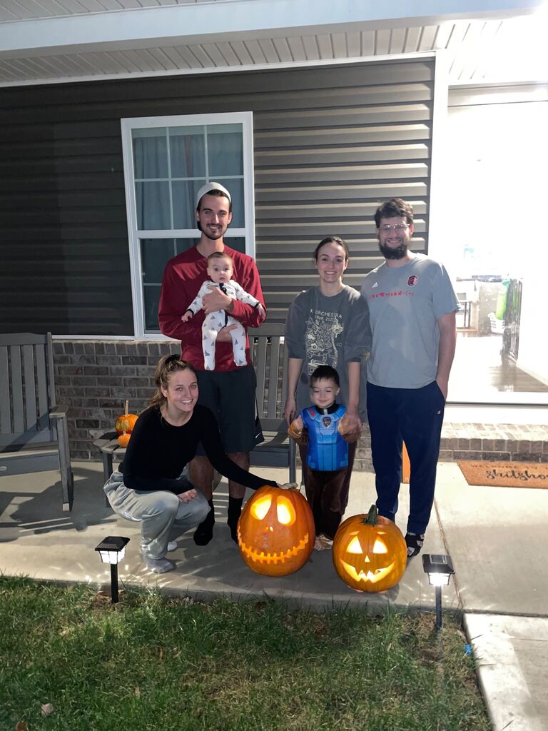
[[(251, 452), (251, 465), (287, 467), (289, 482), (296, 481), (295, 443), (287, 436), (283, 405), (287, 389), (287, 352), (283, 346), (283, 325), (263, 325), (248, 331), (251, 356), (256, 371), (256, 401), (265, 441)], [(273, 376), (271, 378), (271, 375)], [(123, 458), (115, 431), (108, 431), (94, 441), (103, 460), (104, 481), (113, 471), (113, 459)]]

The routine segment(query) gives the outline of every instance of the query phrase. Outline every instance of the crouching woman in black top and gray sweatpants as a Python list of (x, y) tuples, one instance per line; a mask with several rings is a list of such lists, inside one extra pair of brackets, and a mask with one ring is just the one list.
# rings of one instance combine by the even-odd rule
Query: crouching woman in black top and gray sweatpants
[[(197, 404), (198, 382), (194, 368), (178, 355), (159, 360), (154, 374), (156, 393), (140, 414), (126, 455), (104, 485), (115, 513), (141, 523), (141, 554), (149, 570), (161, 574), (173, 569), (165, 558), (175, 521), (181, 531), (204, 523), (213, 504), (180, 477), (196, 456), (199, 442), (215, 469), (229, 480), (256, 490), (276, 483), (241, 469), (221, 447), (215, 417)], [(198, 532), (197, 531), (197, 532)], [(194, 540), (202, 545), (195, 533)]]

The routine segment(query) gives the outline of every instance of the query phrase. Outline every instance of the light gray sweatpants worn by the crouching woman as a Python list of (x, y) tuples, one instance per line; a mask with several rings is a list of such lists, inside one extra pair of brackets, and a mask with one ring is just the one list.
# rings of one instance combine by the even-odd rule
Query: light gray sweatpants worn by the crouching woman
[[(180, 482), (182, 493), (192, 489), (188, 480)], [(195, 498), (184, 503), (175, 493), (164, 490), (148, 492), (127, 488), (118, 470), (110, 475), (103, 489), (117, 515), (141, 523), (141, 553), (145, 558), (164, 558), (175, 520), (182, 531), (188, 531), (202, 523), (210, 511), (208, 501), (199, 490)]]

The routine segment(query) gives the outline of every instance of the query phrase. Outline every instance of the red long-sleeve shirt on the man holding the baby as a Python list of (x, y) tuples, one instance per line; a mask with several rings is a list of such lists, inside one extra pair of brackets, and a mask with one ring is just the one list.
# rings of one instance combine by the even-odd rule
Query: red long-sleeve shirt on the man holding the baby
[[(265, 306), (262, 295), (261, 280), (255, 262), (247, 254), (224, 246), (224, 252), (234, 262), (232, 279), (240, 284), (250, 295)], [(180, 317), (198, 294), (199, 288), (208, 277), (208, 260), (202, 257), (196, 246), (183, 254), (178, 254), (167, 262), (161, 282), (161, 294), (158, 307), (160, 330), (170, 338), (180, 340), (181, 357), (188, 360), (197, 371), (204, 370), (204, 354), (202, 352), (202, 322), (204, 311), (200, 310), (189, 322), (182, 322)], [(234, 309), (230, 313), (239, 320), (243, 327), (259, 327), (264, 322), (256, 308), (234, 300)], [(246, 359), (251, 366), (249, 340), (246, 332)], [(234, 362), (232, 342), (216, 344), (216, 371), (235, 371), (238, 366)]]

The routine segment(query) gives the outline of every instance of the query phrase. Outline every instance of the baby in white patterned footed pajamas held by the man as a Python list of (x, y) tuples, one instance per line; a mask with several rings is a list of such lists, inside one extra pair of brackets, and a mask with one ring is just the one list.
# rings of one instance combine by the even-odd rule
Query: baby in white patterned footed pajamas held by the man
[[(236, 300), (241, 300), (251, 307), (256, 307), (262, 317), (265, 317), (265, 308), (254, 297), (248, 294), (236, 281), (232, 281), (232, 273), (234, 265), (232, 259), (223, 251), (213, 251), (208, 256), (208, 276), (210, 281), (205, 281), (200, 287), (196, 299), (189, 305), (185, 313), (181, 317), (183, 322), (188, 322), (193, 315), (202, 309), (203, 296), (211, 292), (212, 287), (220, 287), (225, 295)], [(246, 332), (240, 322), (234, 317), (230, 317), (224, 310), (210, 312), (205, 316), (202, 323), (202, 350), (204, 353), (204, 368), (206, 371), (215, 370), (215, 344), (217, 333), (227, 325), (237, 325), (234, 330), (230, 330), (232, 338), (232, 352), (234, 353), (234, 362), (237, 366), (246, 366)]]

